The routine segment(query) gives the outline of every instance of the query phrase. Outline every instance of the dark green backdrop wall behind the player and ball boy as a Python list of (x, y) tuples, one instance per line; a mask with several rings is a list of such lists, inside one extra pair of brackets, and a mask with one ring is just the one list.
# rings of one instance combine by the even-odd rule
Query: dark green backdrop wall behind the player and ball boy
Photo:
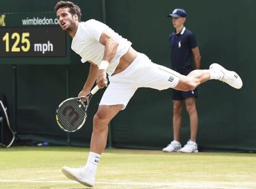
[[(0, 12), (52, 11), (57, 1), (1, 1)], [(186, 9), (186, 27), (197, 36), (202, 69), (213, 62), (236, 70), (244, 87), (236, 90), (218, 81), (199, 87), (198, 146), (202, 150), (256, 150), (254, 45), (256, 1), (74, 1), (83, 20), (95, 18), (128, 38), (132, 46), (153, 62), (170, 66), (168, 36), (173, 31), (166, 17), (175, 8)], [(105, 7), (104, 7), (105, 5)], [(21, 8), (22, 7), (22, 8)], [(105, 14), (106, 10), (106, 14)], [(70, 65), (17, 66), (17, 126), (20, 139), (47, 140), (67, 144), (67, 134), (56, 125), (56, 106), (67, 95), (79, 93), (87, 77), (88, 64), (71, 53)], [(14, 69), (0, 63), (0, 92), (7, 95), (14, 123)], [(68, 79), (67, 79), (68, 74)], [(80, 131), (70, 135), (71, 145), (88, 146), (92, 118), (101, 90), (90, 105), (90, 115)], [(184, 107), (185, 109), (185, 107)], [(111, 122), (113, 147), (161, 149), (173, 139), (171, 90), (139, 89), (126, 110)], [(189, 119), (184, 110), (181, 142), (189, 139)]]

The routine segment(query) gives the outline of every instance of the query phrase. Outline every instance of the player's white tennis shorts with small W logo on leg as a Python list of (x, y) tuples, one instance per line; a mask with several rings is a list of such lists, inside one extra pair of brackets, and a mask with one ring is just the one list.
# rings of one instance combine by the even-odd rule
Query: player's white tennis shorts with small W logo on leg
[(121, 73), (108, 76), (109, 85), (100, 105), (122, 105), (122, 110), (139, 87), (168, 89), (176, 87), (180, 74), (165, 66), (157, 65), (145, 55), (138, 53), (134, 62)]

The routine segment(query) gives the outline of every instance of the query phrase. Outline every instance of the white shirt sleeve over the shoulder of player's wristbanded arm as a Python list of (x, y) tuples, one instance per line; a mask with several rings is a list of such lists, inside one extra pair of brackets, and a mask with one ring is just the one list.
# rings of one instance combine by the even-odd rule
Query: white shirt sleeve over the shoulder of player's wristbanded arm
[(99, 22), (97, 20), (88, 20), (85, 27), (87, 27), (86, 31), (88, 36), (95, 39), (96, 41), (100, 41), (100, 36), (105, 31), (108, 26), (105, 23)]

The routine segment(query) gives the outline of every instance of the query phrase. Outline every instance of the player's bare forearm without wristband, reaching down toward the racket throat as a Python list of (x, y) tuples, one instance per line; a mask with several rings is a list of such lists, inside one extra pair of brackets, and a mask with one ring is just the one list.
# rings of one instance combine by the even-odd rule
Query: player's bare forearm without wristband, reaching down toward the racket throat
[(89, 70), (89, 74), (87, 77), (87, 81), (85, 82), (83, 89), (79, 93), (78, 97), (87, 95), (90, 92), (90, 90), (93, 87), (93, 84), (95, 84), (95, 81), (97, 78), (97, 73), (98, 73), (98, 66), (95, 63), (90, 62), (90, 70)]

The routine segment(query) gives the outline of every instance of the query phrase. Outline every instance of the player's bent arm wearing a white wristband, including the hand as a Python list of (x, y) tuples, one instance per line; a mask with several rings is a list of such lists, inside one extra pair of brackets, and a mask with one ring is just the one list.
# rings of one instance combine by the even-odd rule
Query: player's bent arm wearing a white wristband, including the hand
[(105, 51), (103, 60), (99, 66), (96, 82), (100, 88), (103, 88), (107, 86), (106, 69), (108, 68), (109, 63), (113, 60), (114, 55), (116, 55), (118, 42), (108, 33), (108, 31), (103, 31), (100, 36), (100, 43), (105, 46)]

